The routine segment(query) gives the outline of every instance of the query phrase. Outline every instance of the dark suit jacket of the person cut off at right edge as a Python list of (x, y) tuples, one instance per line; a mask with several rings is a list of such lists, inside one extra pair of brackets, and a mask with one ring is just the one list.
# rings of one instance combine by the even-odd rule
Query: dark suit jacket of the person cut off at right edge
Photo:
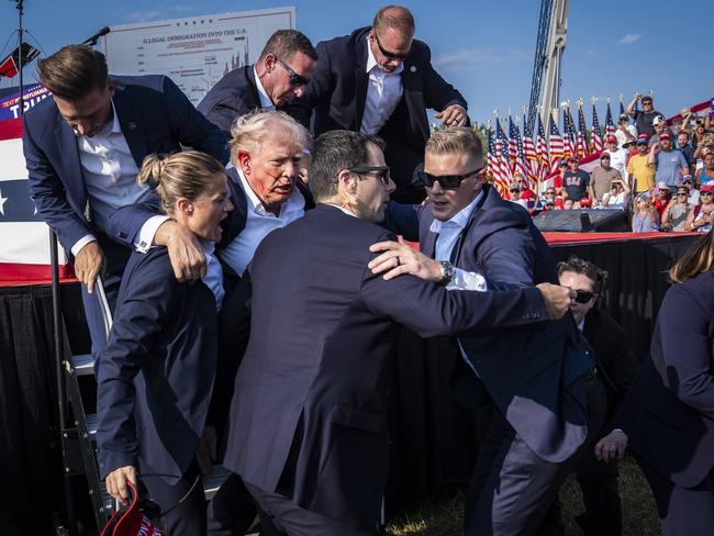
[(649, 358), (618, 415), (632, 450), (684, 488), (714, 467), (713, 295), (712, 271), (667, 291)]

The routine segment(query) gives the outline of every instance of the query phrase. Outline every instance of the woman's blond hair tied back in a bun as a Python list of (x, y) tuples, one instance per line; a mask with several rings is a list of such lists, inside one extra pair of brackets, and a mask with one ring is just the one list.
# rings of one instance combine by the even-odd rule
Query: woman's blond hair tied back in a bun
[(196, 201), (219, 174), (225, 174), (225, 167), (211, 155), (186, 150), (172, 155), (148, 155), (136, 181), (142, 186), (155, 186), (161, 209), (171, 214), (177, 199)]

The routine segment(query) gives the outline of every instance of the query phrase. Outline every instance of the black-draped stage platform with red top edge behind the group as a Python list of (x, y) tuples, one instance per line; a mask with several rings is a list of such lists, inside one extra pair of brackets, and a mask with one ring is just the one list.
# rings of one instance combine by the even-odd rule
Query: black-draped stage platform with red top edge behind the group
[[(695, 234), (549, 233), (558, 260), (578, 255), (609, 271), (602, 306), (631, 336), (639, 360), (649, 339), (666, 272)], [(0, 520), (5, 535), (45, 534), (62, 498), (56, 383), (52, 358), (52, 291), (43, 281), (0, 288)], [(63, 310), (76, 345), (88, 349), (79, 283), (62, 284)], [(388, 506), (464, 483), (488, 418), (466, 411), (449, 390), (458, 356), (448, 339), (423, 340), (404, 330), (390, 393), (391, 472)], [(81, 496), (79, 498), (81, 499)]]

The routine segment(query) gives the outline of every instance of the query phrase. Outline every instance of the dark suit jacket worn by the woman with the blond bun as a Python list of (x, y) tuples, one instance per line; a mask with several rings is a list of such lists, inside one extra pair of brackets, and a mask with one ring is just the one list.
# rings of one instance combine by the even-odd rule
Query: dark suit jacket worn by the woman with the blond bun
[(101, 477), (133, 465), (176, 482), (203, 432), (216, 359), (211, 290), (179, 283), (166, 248), (132, 254), (97, 362)]

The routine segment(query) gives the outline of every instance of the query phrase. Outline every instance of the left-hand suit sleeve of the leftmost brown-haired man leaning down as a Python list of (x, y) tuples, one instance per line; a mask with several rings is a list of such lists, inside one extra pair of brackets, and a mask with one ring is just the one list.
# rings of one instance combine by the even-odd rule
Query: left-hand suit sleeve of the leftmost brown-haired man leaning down
[[(42, 219), (69, 252), (71, 246), (91, 234), (91, 231), (67, 201), (65, 186), (44, 152), (35, 144), (26, 118), (23, 118), (22, 149), (27, 166), (30, 196)], [(79, 177), (79, 180), (83, 181), (83, 178)]]

